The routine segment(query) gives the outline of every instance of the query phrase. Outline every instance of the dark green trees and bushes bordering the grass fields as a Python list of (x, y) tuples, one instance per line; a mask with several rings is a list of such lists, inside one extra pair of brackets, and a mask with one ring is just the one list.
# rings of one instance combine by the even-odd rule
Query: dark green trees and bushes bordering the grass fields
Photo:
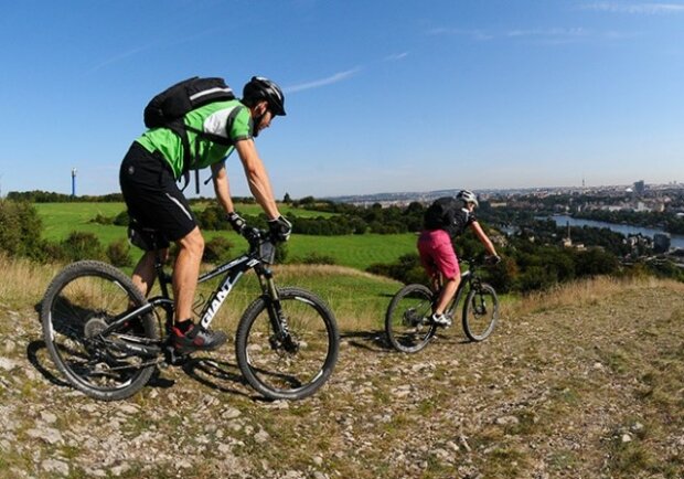
[[(426, 209), (418, 202), (389, 207), (380, 204), (363, 207), (325, 201), (291, 204), (309, 211), (307, 215), (291, 215), (293, 233), (316, 235), (417, 233), (421, 228)], [(311, 217), (310, 211), (333, 213), (333, 216)], [(578, 249), (562, 246), (567, 228), (556, 226), (553, 221), (539, 221), (525, 212), (505, 214), (500, 209), (491, 209), (487, 202), (478, 210), (478, 215), (488, 234), (499, 243), (498, 251), (503, 256), (499, 265), (487, 270), (488, 280), (502, 292), (528, 292), (595, 275), (655, 274), (684, 280), (682, 270), (669, 262), (637, 262), (635, 265), (626, 266), (624, 260), (634, 253), (633, 248), (626, 244), (622, 235), (607, 228), (571, 227), (573, 241), (585, 245), (585, 248)], [(197, 211), (196, 216), (203, 230), (225, 231), (229, 227), (218, 206)], [(248, 224), (266, 227), (263, 214), (244, 216)], [(520, 223), (517, 232), (512, 235), (501, 234), (498, 227), (503, 220), (512, 219)], [(122, 211), (113, 217), (97, 215), (92, 221), (126, 226), (128, 215)], [(481, 244), (470, 232), (459, 237), (455, 247), (463, 258), (483, 253)], [(207, 241), (204, 260), (228, 259), (233, 248), (231, 241), (216, 236)], [(96, 235), (84, 232), (72, 232), (61, 242), (42, 240), (41, 220), (35, 207), (26, 201), (0, 200), (0, 251), (9, 256), (23, 256), (38, 262), (71, 262), (88, 257), (107, 260), (116, 266), (130, 266), (132, 263), (130, 246), (125, 238), (107, 246), (103, 246)], [(307, 258), (288, 258), (287, 245), (279, 248), (278, 259), (281, 263), (334, 263), (334, 258), (316, 254)], [(427, 280), (416, 253), (391, 264), (372, 265), (367, 270), (405, 283)]]

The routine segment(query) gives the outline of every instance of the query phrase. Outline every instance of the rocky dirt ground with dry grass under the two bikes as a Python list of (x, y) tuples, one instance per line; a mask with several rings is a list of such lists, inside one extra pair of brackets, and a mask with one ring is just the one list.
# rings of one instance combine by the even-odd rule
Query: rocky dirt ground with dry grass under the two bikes
[(32, 310), (0, 318), (0, 477), (684, 477), (676, 285), (506, 315), (483, 343), (453, 327), (413, 355), (339, 318), (331, 381), (291, 403), (244, 385), (232, 345), (99, 403), (56, 375)]

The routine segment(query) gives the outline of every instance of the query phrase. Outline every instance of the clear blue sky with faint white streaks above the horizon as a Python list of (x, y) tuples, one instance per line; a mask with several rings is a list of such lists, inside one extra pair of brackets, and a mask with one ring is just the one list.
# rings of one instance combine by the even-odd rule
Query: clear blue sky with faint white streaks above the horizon
[(284, 87), (278, 198), (684, 182), (684, 1), (3, 1), (0, 42), (2, 195), (72, 168), (118, 192), (143, 106), (193, 75)]

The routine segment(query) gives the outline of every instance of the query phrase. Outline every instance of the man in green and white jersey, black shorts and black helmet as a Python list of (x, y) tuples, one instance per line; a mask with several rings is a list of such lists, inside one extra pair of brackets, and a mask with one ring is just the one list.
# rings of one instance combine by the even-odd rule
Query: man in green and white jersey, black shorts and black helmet
[[(275, 241), (289, 238), (291, 224), (278, 211), (270, 180), (254, 143), (254, 138), (268, 128), (276, 116), (285, 115), (285, 96), (280, 87), (267, 78), (255, 76), (245, 85), (242, 99), (210, 103), (184, 117), (185, 125), (191, 127), (188, 129), (188, 145), (190, 158), (194, 158), (192, 168), (211, 168), (218, 203), (237, 232), (242, 231), (245, 222), (235, 213), (225, 166), (225, 158), (233, 150), (239, 156), (252, 194), (268, 216), (271, 236)], [(210, 135), (197, 135), (196, 130)], [(211, 136), (224, 140), (212, 141)], [(183, 142), (171, 129), (147, 130), (133, 141), (124, 158), (119, 182), (131, 216), (131, 241), (146, 249), (132, 276), (133, 283), (146, 296), (154, 281), (154, 252), (149, 251), (143, 228), (160, 233), (164, 256), (169, 242), (178, 245), (173, 268), (174, 345), (181, 353), (188, 353), (216, 349), (226, 341), (227, 336), (192, 321), (204, 237), (177, 184), (189, 169), (183, 153)]]

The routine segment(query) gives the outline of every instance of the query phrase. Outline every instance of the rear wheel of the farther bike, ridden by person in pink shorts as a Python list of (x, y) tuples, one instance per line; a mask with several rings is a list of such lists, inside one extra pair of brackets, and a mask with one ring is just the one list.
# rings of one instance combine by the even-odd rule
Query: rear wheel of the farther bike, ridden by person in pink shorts
[(432, 315), (434, 294), (425, 285), (406, 285), (394, 295), (385, 313), (385, 334), (397, 351), (415, 353), (435, 336), (437, 326), (426, 322)]

